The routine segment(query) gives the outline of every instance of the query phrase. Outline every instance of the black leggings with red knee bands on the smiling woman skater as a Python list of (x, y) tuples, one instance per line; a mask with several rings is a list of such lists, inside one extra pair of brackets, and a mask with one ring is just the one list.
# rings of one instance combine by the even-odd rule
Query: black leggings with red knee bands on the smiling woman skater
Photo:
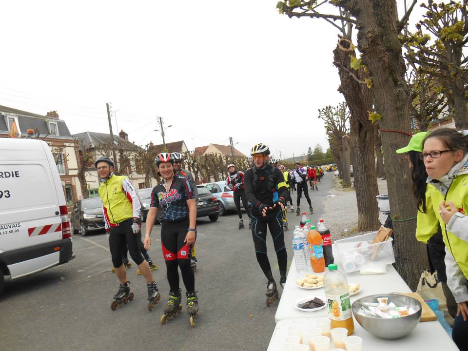
[(195, 291), (195, 275), (190, 266), (192, 247), (185, 244), (189, 222), (164, 222), (161, 227), (162, 254), (166, 261), (167, 281), (172, 292), (179, 290), (179, 272), (182, 273), (185, 289)]

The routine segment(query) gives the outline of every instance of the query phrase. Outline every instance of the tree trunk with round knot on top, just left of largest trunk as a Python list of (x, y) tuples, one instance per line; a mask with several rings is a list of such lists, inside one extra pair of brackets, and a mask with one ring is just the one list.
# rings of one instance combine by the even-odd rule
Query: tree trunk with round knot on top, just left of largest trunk
[[(333, 50), (333, 58), (341, 81), (338, 90), (345, 97), (351, 112), (351, 159), (356, 188), (358, 230), (372, 231), (380, 227), (374, 148), (369, 147), (374, 145), (374, 127), (368, 118), (368, 111), (372, 109), (372, 94), (366, 85), (358, 83), (345, 69), (351, 67), (350, 54), (355, 55), (350, 39), (338, 41)], [(361, 80), (367, 78), (363, 69), (359, 69), (356, 74)]]

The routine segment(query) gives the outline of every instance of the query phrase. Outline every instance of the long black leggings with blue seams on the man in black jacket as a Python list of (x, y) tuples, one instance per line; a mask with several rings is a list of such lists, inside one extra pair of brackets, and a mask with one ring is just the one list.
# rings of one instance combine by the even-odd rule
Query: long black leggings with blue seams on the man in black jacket
[[(273, 212), (275, 211), (275, 212)], [(286, 271), (288, 254), (284, 245), (283, 217), (281, 211), (272, 210), (266, 217), (252, 215), (252, 238), (254, 239), (255, 255), (263, 273), (271, 272), (270, 261), (267, 255), (267, 225), (272, 234), (274, 250), (278, 259), (280, 271)]]

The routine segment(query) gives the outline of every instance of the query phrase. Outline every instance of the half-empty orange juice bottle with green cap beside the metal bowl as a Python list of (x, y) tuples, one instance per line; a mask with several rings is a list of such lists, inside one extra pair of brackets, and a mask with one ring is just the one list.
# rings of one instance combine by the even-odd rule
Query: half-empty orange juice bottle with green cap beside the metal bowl
[(336, 264), (328, 265), (328, 273), (323, 279), (325, 296), (327, 298), (330, 329), (346, 328), (348, 335), (354, 332), (350, 294), (346, 276), (338, 271)]

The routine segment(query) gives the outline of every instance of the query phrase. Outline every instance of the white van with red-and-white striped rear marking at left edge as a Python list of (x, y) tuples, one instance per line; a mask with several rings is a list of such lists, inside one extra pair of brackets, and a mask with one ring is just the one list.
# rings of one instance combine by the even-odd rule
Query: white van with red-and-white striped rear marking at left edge
[(0, 293), (5, 280), (73, 258), (65, 196), (49, 146), (0, 138)]

